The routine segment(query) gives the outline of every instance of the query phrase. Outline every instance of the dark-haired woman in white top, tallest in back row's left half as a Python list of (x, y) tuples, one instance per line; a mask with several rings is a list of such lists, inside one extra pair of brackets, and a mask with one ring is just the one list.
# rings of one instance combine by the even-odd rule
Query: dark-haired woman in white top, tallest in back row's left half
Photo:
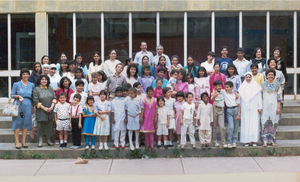
[(118, 63), (121, 63), (119, 60), (116, 59), (117, 57), (117, 52), (116, 50), (112, 49), (108, 52), (109, 55), (109, 60), (106, 60), (102, 65), (101, 65), (101, 70), (104, 71), (104, 73), (107, 75), (107, 77), (115, 74), (116, 72), (116, 65)]

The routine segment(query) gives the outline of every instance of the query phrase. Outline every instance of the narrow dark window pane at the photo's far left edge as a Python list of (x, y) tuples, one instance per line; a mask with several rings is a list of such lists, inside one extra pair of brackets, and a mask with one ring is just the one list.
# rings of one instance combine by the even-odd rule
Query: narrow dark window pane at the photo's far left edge
[(7, 15), (0, 15), (0, 42), (0, 70), (7, 70)]

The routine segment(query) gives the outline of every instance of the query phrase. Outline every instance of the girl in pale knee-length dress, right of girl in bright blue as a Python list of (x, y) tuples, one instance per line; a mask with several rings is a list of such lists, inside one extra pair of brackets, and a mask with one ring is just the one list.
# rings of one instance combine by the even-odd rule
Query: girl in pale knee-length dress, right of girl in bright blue
[(106, 91), (100, 91), (100, 101), (95, 103), (94, 112), (96, 113), (96, 122), (94, 128), (94, 135), (99, 135), (100, 146), (99, 150), (103, 150), (102, 136), (104, 136), (104, 149), (108, 150), (107, 136), (110, 131), (109, 113), (111, 111), (111, 104), (106, 100)]

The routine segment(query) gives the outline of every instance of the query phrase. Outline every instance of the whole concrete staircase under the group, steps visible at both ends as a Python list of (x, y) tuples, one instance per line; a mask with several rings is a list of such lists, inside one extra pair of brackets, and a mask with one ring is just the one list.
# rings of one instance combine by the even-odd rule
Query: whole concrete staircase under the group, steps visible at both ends
[[(2, 114), (2, 109), (5, 104), (0, 104), (0, 113)], [(13, 131), (11, 130), (12, 118), (5, 117), (0, 114), (0, 158), (3, 158), (7, 152), (13, 158), (16, 158), (20, 151), (14, 147), (14, 136)], [(195, 134), (198, 138), (198, 133)], [(69, 135), (71, 139), (71, 135)], [(20, 137), (21, 138), (21, 137)], [(97, 138), (98, 141), (98, 138)], [(68, 146), (71, 146), (71, 140), (69, 140)], [(82, 137), (82, 146), (84, 144), (84, 137)], [(189, 145), (184, 150), (176, 150), (174, 148), (165, 149), (156, 149), (155, 153), (148, 152), (149, 155), (155, 157), (201, 157), (201, 156), (266, 156), (266, 155), (300, 155), (300, 101), (285, 101), (283, 108), (282, 119), (279, 122), (278, 131), (277, 131), (277, 147), (268, 146), (266, 148), (262, 147), (261, 143), (258, 143), (258, 147), (244, 147), (242, 144), (238, 144), (236, 149), (223, 149), (215, 148), (202, 150), (200, 148), (199, 140), (197, 140), (197, 149), (192, 149)], [(44, 156), (56, 156), (59, 158), (76, 158), (81, 156), (85, 151), (84, 147), (77, 150), (71, 149), (60, 149), (58, 146), (47, 146), (44, 143), (43, 148), (37, 148), (37, 141), (32, 140), (27, 136), (28, 149), (21, 149), (22, 153), (36, 153), (42, 154)], [(174, 142), (175, 144), (175, 142)], [(99, 144), (96, 143), (96, 147)], [(108, 158), (124, 158), (131, 156), (132, 152), (128, 147), (126, 149), (115, 150), (112, 146), (112, 143), (109, 143), (110, 150), (108, 152), (101, 152), (96, 150), (96, 154), (99, 157)], [(144, 153), (144, 147), (141, 147), (139, 153)], [(19, 155), (20, 156), (20, 155)], [(134, 155), (133, 155), (134, 156)]]

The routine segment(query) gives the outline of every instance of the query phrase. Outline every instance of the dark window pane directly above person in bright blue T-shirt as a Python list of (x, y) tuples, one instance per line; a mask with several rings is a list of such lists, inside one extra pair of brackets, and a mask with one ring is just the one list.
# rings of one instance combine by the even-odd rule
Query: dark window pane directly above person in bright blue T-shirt
[(221, 57), (221, 47), (228, 47), (227, 57), (236, 59), (236, 49), (239, 46), (239, 12), (216, 12), (216, 60)]

